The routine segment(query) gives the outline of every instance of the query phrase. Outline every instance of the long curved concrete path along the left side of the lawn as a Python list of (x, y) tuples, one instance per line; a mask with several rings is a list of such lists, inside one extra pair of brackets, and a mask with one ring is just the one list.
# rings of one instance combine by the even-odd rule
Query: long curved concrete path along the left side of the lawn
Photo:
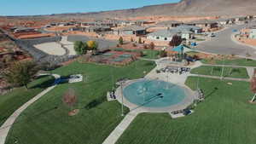
[[(48, 75), (48, 74), (44, 74), (44, 75)], [(57, 79), (61, 78), (61, 76), (59, 76), (57, 74), (52, 74), (52, 76), (55, 77), (55, 81), (57, 81)], [(30, 101), (27, 101), (23, 106), (21, 106), (19, 109), (17, 109), (5, 121), (5, 123), (0, 127), (0, 144), (5, 144), (5, 140), (6, 140), (6, 137), (7, 137), (8, 133), (9, 133), (9, 130), (11, 129), (12, 125), (15, 123), (16, 118), (18, 118), (20, 116), (20, 113), (23, 112), (27, 107), (32, 105), (32, 103), (34, 103), (35, 101), (38, 101), (39, 98), (41, 98), (43, 95), (48, 93), (51, 89), (54, 89), (57, 84), (58, 83), (55, 83), (51, 87), (49, 87), (47, 89), (44, 89), (44, 91), (42, 91), (40, 94), (33, 97)]]

